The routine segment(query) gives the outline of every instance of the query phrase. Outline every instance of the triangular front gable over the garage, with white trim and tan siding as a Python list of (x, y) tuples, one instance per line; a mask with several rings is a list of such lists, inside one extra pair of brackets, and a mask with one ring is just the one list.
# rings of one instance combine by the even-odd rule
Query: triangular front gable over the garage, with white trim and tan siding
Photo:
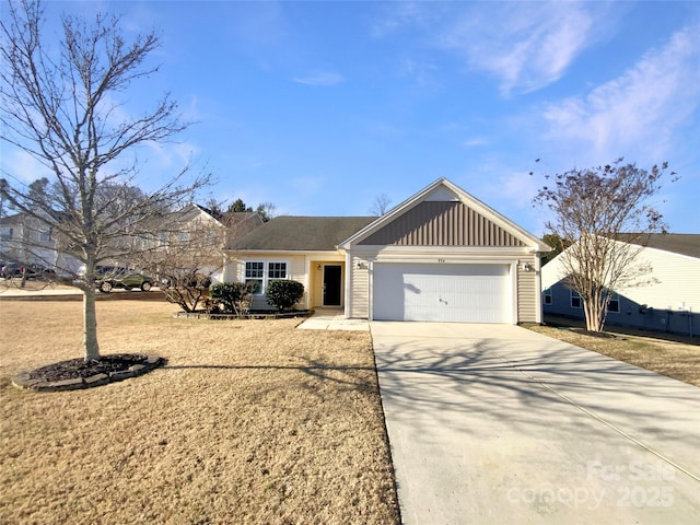
[(551, 248), (499, 212), (441, 178), (340, 243), (394, 246)]

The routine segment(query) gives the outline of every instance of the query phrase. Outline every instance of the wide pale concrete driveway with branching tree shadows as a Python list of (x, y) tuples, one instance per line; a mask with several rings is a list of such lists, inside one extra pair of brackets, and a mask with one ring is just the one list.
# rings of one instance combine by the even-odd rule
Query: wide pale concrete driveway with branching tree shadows
[(516, 326), (371, 331), (404, 523), (698, 523), (700, 388)]

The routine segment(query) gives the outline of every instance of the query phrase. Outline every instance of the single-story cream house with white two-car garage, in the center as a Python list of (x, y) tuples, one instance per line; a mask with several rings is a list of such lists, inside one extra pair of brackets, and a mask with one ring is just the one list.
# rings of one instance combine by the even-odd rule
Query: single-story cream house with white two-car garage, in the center
[(302, 307), (392, 320), (540, 323), (551, 248), (442, 178), (386, 214), (279, 217), (229, 246), (224, 280), (304, 284)]

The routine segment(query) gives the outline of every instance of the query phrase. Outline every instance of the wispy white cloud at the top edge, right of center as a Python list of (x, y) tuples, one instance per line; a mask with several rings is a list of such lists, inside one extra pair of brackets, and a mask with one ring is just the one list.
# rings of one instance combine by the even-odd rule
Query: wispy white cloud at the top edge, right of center
[(421, 32), (430, 47), (457, 54), (468, 68), (494, 75), (508, 96), (559, 80), (615, 24), (611, 9), (608, 3), (559, 1), (397, 2), (375, 23), (373, 34)]

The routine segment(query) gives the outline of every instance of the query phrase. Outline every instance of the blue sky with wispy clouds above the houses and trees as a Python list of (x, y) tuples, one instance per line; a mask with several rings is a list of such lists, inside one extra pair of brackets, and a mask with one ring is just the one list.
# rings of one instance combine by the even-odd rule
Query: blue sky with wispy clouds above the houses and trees
[[(124, 110), (168, 91), (196, 124), (139, 152), (143, 187), (191, 155), (219, 200), (365, 215), (446, 177), (541, 234), (545, 174), (623, 156), (668, 161), (681, 178), (657, 206), (700, 232), (700, 2), (47, 4), (61, 11), (161, 36)], [(38, 174), (7, 145), (1, 163)]]

